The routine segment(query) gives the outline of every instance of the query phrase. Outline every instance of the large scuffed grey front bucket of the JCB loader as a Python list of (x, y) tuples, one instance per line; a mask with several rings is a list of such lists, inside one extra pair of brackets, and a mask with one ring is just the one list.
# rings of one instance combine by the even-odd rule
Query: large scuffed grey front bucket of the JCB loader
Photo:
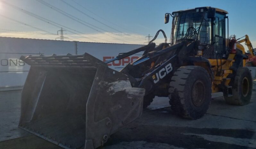
[(144, 89), (85, 53), (21, 57), (31, 65), (19, 127), (66, 149), (94, 149), (142, 114)]

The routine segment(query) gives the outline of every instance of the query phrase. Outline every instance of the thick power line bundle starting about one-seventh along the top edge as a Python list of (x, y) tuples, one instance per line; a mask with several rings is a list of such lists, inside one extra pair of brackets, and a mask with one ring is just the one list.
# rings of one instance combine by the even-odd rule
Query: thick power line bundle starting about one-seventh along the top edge
[[(74, 20), (74, 21), (77, 21), (78, 23), (80, 23), (80, 24), (82, 24), (82, 25), (85, 25), (85, 26), (87, 26), (87, 27), (89, 27), (89, 28), (91, 28), (91, 29), (93, 29), (93, 30), (95, 30), (95, 31), (97, 31), (97, 32), (103, 33), (103, 32), (101, 32), (101, 31), (99, 31), (98, 29), (93, 28), (93, 27), (96, 27), (96, 26), (94, 26), (94, 25), (92, 25), (92, 24), (90, 24), (90, 23), (88, 23), (88, 22), (86, 22), (86, 21), (84, 21), (84, 20), (81, 20), (81, 19), (79, 19), (79, 18), (77, 18), (77, 17), (75, 17), (75, 16), (73, 16), (73, 15), (67, 13), (67, 12), (64, 12), (64, 11), (62, 11), (62, 10), (56, 8), (55, 6), (53, 6), (53, 5), (51, 5), (51, 4), (48, 4), (47, 2), (45, 2), (45, 1), (43, 1), (43, 0), (37, 0), (37, 1), (38, 1), (39, 3), (41, 3), (41, 4), (45, 5), (45, 6), (47, 6), (47, 7), (49, 7), (49, 8), (51, 8), (51, 9), (55, 10), (56, 12), (59, 12), (59, 13), (63, 14), (64, 16), (66, 16), (66, 17), (68, 17), (68, 18), (70, 18), (70, 19), (72, 19), (72, 20)], [(81, 22), (81, 21), (82, 21), (82, 22)], [(84, 24), (83, 22), (85, 22), (85, 23), (87, 23), (87, 24), (89, 24), (89, 25), (91, 25), (91, 26), (93, 26), (93, 27), (90, 27), (90, 26)], [(99, 28), (99, 27), (96, 27), (96, 28)], [(99, 28), (99, 29), (104, 30), (104, 29), (102, 29), (102, 28)], [(104, 30), (104, 31), (108, 32), (107, 30)], [(104, 33), (103, 33), (103, 34), (104, 34)], [(109, 35), (109, 36), (110, 36), (110, 35)], [(113, 37), (113, 36), (110, 36), (110, 37)], [(121, 40), (121, 41), (126, 42), (126, 43), (129, 43), (129, 42), (127, 42), (127, 41), (124, 41), (124, 40), (122, 40), (122, 39), (118, 39), (118, 38), (116, 38), (116, 37), (113, 37), (113, 38), (115, 38), (115, 39), (117, 39), (117, 40)]]

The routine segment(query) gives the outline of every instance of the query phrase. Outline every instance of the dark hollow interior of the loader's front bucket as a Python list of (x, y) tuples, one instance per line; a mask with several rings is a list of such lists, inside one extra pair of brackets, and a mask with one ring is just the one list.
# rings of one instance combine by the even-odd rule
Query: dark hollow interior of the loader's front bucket
[(22, 90), (19, 126), (64, 148), (82, 147), (96, 70), (31, 67)]

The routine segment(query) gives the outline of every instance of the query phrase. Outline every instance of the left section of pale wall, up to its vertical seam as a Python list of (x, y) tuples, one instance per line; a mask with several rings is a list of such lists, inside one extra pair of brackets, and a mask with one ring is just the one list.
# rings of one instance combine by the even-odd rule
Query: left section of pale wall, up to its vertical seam
[(23, 86), (30, 66), (21, 55), (75, 54), (74, 42), (0, 37), (0, 88)]

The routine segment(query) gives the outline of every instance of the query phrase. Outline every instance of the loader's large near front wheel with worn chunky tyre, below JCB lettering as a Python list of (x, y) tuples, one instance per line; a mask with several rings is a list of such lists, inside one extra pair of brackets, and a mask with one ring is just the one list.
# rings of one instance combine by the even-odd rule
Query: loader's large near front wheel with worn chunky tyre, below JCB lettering
[(180, 67), (169, 84), (172, 110), (188, 119), (201, 118), (211, 102), (211, 79), (203, 67)]

